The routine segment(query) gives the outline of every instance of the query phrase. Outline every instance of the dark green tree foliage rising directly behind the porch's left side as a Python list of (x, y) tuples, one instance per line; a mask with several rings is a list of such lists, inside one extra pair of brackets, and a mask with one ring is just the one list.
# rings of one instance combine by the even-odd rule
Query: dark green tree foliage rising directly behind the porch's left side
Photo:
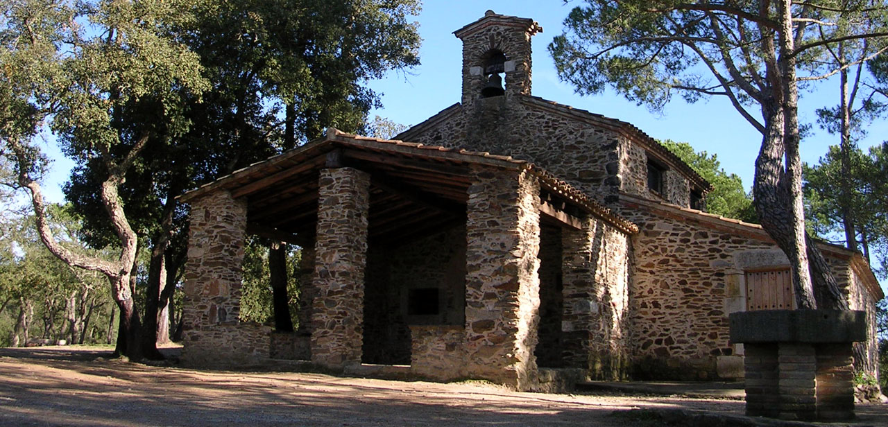
[[(186, 190), (317, 138), (327, 126), (361, 129), (378, 101), (362, 83), (418, 63), (416, 24), (408, 22), (418, 7), (415, 0), (189, 2), (188, 19), (167, 30), (197, 56), (211, 86), (199, 98), (170, 91), (182, 103), (181, 132), (158, 129), (145, 148), (150, 155), (126, 172), (121, 196), (143, 245), (166, 233), (164, 210)], [(162, 100), (143, 99), (121, 112), (121, 122), (153, 123), (165, 111), (157, 108)], [(106, 177), (103, 162), (82, 162), (65, 189), (97, 246), (116, 239), (97, 192)], [(186, 210), (172, 209), (174, 246), (184, 249)]]

